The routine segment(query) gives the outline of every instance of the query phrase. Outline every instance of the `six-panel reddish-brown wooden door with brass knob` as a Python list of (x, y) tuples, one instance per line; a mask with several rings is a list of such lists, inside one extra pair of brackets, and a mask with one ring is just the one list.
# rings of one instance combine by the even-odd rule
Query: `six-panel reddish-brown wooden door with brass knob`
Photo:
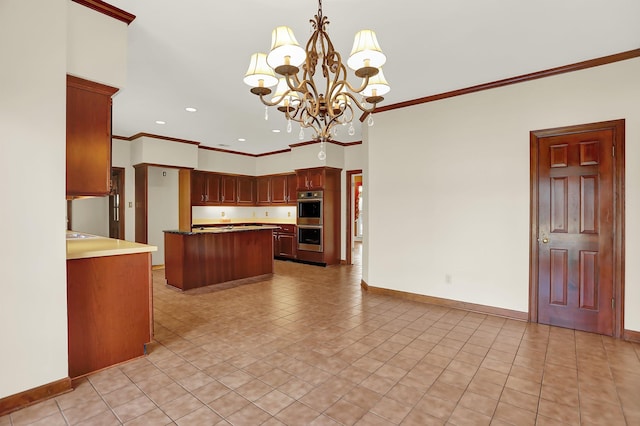
[(537, 306), (532, 308), (539, 323), (616, 332), (615, 280), (621, 264), (616, 136), (615, 127), (594, 125), (532, 132), (537, 159), (532, 182), (537, 189), (532, 234)]

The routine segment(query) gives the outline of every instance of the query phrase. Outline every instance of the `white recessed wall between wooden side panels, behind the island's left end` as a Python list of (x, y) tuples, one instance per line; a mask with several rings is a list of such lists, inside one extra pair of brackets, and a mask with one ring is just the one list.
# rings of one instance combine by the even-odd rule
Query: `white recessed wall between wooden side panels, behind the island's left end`
[(157, 246), (151, 263), (164, 265), (164, 232), (178, 229), (178, 170), (149, 167), (148, 187), (148, 244)]

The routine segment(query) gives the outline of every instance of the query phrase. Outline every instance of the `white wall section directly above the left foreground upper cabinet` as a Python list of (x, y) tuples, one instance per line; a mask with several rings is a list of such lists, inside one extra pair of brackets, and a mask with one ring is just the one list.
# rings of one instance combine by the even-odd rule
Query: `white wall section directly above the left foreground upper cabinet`
[(127, 81), (127, 24), (67, 0), (67, 73), (122, 88)]

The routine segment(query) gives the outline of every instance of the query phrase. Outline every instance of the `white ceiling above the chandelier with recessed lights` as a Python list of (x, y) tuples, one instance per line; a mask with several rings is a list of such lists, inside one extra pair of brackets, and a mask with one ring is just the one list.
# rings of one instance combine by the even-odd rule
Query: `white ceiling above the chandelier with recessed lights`
[[(107, 1), (136, 15), (127, 85), (113, 101), (115, 135), (250, 154), (300, 142), (299, 127), (286, 133), (277, 110), (264, 120), (242, 79), (250, 55), (268, 52), (276, 26), (290, 26), (306, 44), (316, 0)], [(376, 31), (391, 85), (380, 106), (640, 47), (639, 0), (324, 0), (322, 8), (345, 61), (358, 30)], [(355, 136), (340, 126), (335, 140), (360, 140), (359, 124)], [(311, 137), (307, 130), (304, 141)]]

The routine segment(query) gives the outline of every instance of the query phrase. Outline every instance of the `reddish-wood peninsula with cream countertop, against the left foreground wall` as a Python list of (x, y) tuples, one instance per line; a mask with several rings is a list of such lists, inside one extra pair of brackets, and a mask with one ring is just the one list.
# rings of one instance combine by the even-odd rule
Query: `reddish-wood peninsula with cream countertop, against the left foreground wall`
[(153, 338), (157, 247), (67, 231), (69, 377), (143, 356)]

